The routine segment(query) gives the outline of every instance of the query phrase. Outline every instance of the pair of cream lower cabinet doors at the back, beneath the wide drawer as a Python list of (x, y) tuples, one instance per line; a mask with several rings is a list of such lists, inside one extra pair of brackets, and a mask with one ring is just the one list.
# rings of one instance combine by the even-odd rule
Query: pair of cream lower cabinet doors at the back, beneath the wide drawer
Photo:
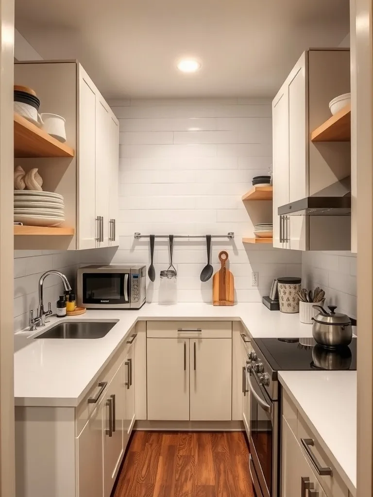
[(148, 420), (232, 419), (231, 338), (148, 338)]

